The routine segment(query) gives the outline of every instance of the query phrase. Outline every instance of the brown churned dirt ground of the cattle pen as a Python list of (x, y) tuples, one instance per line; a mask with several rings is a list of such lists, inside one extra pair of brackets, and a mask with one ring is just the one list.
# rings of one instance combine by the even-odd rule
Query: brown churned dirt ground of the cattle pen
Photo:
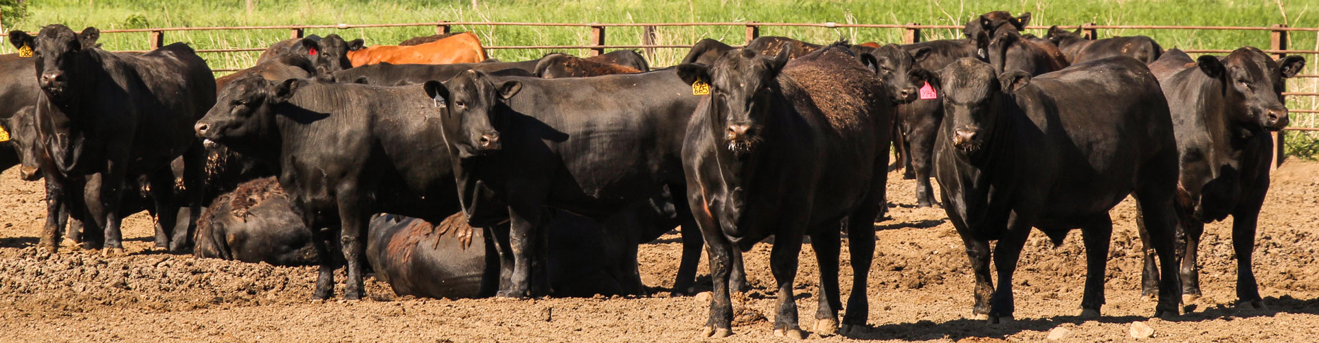
[[(1104, 317), (1078, 315), (1084, 280), (1079, 231), (1053, 248), (1034, 232), (1017, 273), (1016, 322), (971, 318), (972, 277), (960, 240), (940, 208), (914, 208), (914, 185), (890, 174), (893, 219), (876, 224), (869, 276), (871, 318), (851, 338), (819, 342), (1037, 342), (1064, 328), (1059, 342), (1132, 342), (1133, 322), (1153, 327), (1150, 342), (1312, 342), (1319, 336), (1319, 164), (1289, 161), (1274, 174), (1260, 219), (1256, 273), (1269, 310), (1233, 306), (1236, 263), (1231, 224), (1207, 227), (1202, 245), (1204, 297), (1175, 321), (1149, 319), (1140, 298), (1140, 239), (1128, 199), (1112, 210), (1115, 232)], [(125, 220), (127, 257), (62, 249), (38, 256), (41, 182), (0, 174), (0, 342), (691, 342), (708, 302), (669, 297), (678, 269), (677, 235), (641, 248), (652, 297), (542, 299), (421, 299), (396, 297), (368, 278), (369, 299), (310, 301), (314, 268), (277, 268), (148, 249), (150, 219)], [(847, 245), (843, 247), (843, 263)], [(769, 247), (747, 253), (753, 290), (739, 306), (773, 319)], [(802, 327), (814, 327), (818, 272), (810, 245), (797, 277)], [(702, 261), (702, 282), (708, 282)], [(843, 290), (851, 268), (843, 268)], [(339, 280), (342, 281), (342, 273)], [(708, 286), (707, 286), (708, 288)], [(340, 285), (342, 294), (342, 285)], [(782, 340), (752, 318), (723, 342)], [(1063, 331), (1063, 330), (1059, 330)]]

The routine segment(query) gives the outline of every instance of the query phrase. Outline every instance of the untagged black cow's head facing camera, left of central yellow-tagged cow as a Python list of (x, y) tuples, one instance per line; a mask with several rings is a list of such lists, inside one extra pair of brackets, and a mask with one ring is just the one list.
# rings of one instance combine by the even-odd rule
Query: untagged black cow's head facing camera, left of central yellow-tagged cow
[(501, 148), (499, 127), (504, 115), (500, 104), (522, 90), (517, 80), (493, 82), (483, 71), (468, 70), (446, 82), (427, 80), (426, 95), (443, 106), (445, 141), (459, 158), (483, 156)]

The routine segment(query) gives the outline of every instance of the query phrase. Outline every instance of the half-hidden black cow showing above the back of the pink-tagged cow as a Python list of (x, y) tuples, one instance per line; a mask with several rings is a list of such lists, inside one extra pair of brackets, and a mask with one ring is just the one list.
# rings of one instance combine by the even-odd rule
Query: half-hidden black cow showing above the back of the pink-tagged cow
[(1050, 26), (1045, 38), (1058, 46), (1070, 63), (1095, 61), (1113, 55), (1129, 55), (1145, 63), (1154, 63), (1163, 54), (1163, 47), (1153, 38), (1145, 36), (1111, 37), (1091, 41), (1080, 37), (1080, 28), (1076, 32)]

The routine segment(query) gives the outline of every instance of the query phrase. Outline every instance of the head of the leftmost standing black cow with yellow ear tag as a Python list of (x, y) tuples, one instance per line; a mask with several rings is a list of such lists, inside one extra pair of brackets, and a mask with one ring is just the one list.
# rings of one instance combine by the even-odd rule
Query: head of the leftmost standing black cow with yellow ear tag
[(69, 26), (54, 24), (41, 28), (37, 37), (25, 32), (9, 32), (9, 44), (15, 47), (32, 49), (37, 65), (37, 84), (53, 102), (74, 100), (77, 95), (67, 95), (70, 84), (90, 84), (86, 78), (94, 74), (87, 69), (95, 63), (91, 57), (92, 47), (100, 30), (86, 28), (82, 33), (75, 33)]

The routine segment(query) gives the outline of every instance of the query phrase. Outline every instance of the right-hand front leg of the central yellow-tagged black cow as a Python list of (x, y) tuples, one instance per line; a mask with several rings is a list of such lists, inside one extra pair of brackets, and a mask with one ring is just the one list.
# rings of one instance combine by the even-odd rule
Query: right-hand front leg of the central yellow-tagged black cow
[[(802, 328), (797, 325), (797, 299), (793, 294), (801, 251), (802, 236), (786, 234), (774, 236), (774, 247), (769, 252), (769, 269), (774, 274), (774, 282), (778, 284), (778, 310), (774, 315), (774, 335), (794, 339), (806, 338), (806, 332), (802, 332)], [(838, 269), (835, 268), (834, 270), (836, 272)]]

